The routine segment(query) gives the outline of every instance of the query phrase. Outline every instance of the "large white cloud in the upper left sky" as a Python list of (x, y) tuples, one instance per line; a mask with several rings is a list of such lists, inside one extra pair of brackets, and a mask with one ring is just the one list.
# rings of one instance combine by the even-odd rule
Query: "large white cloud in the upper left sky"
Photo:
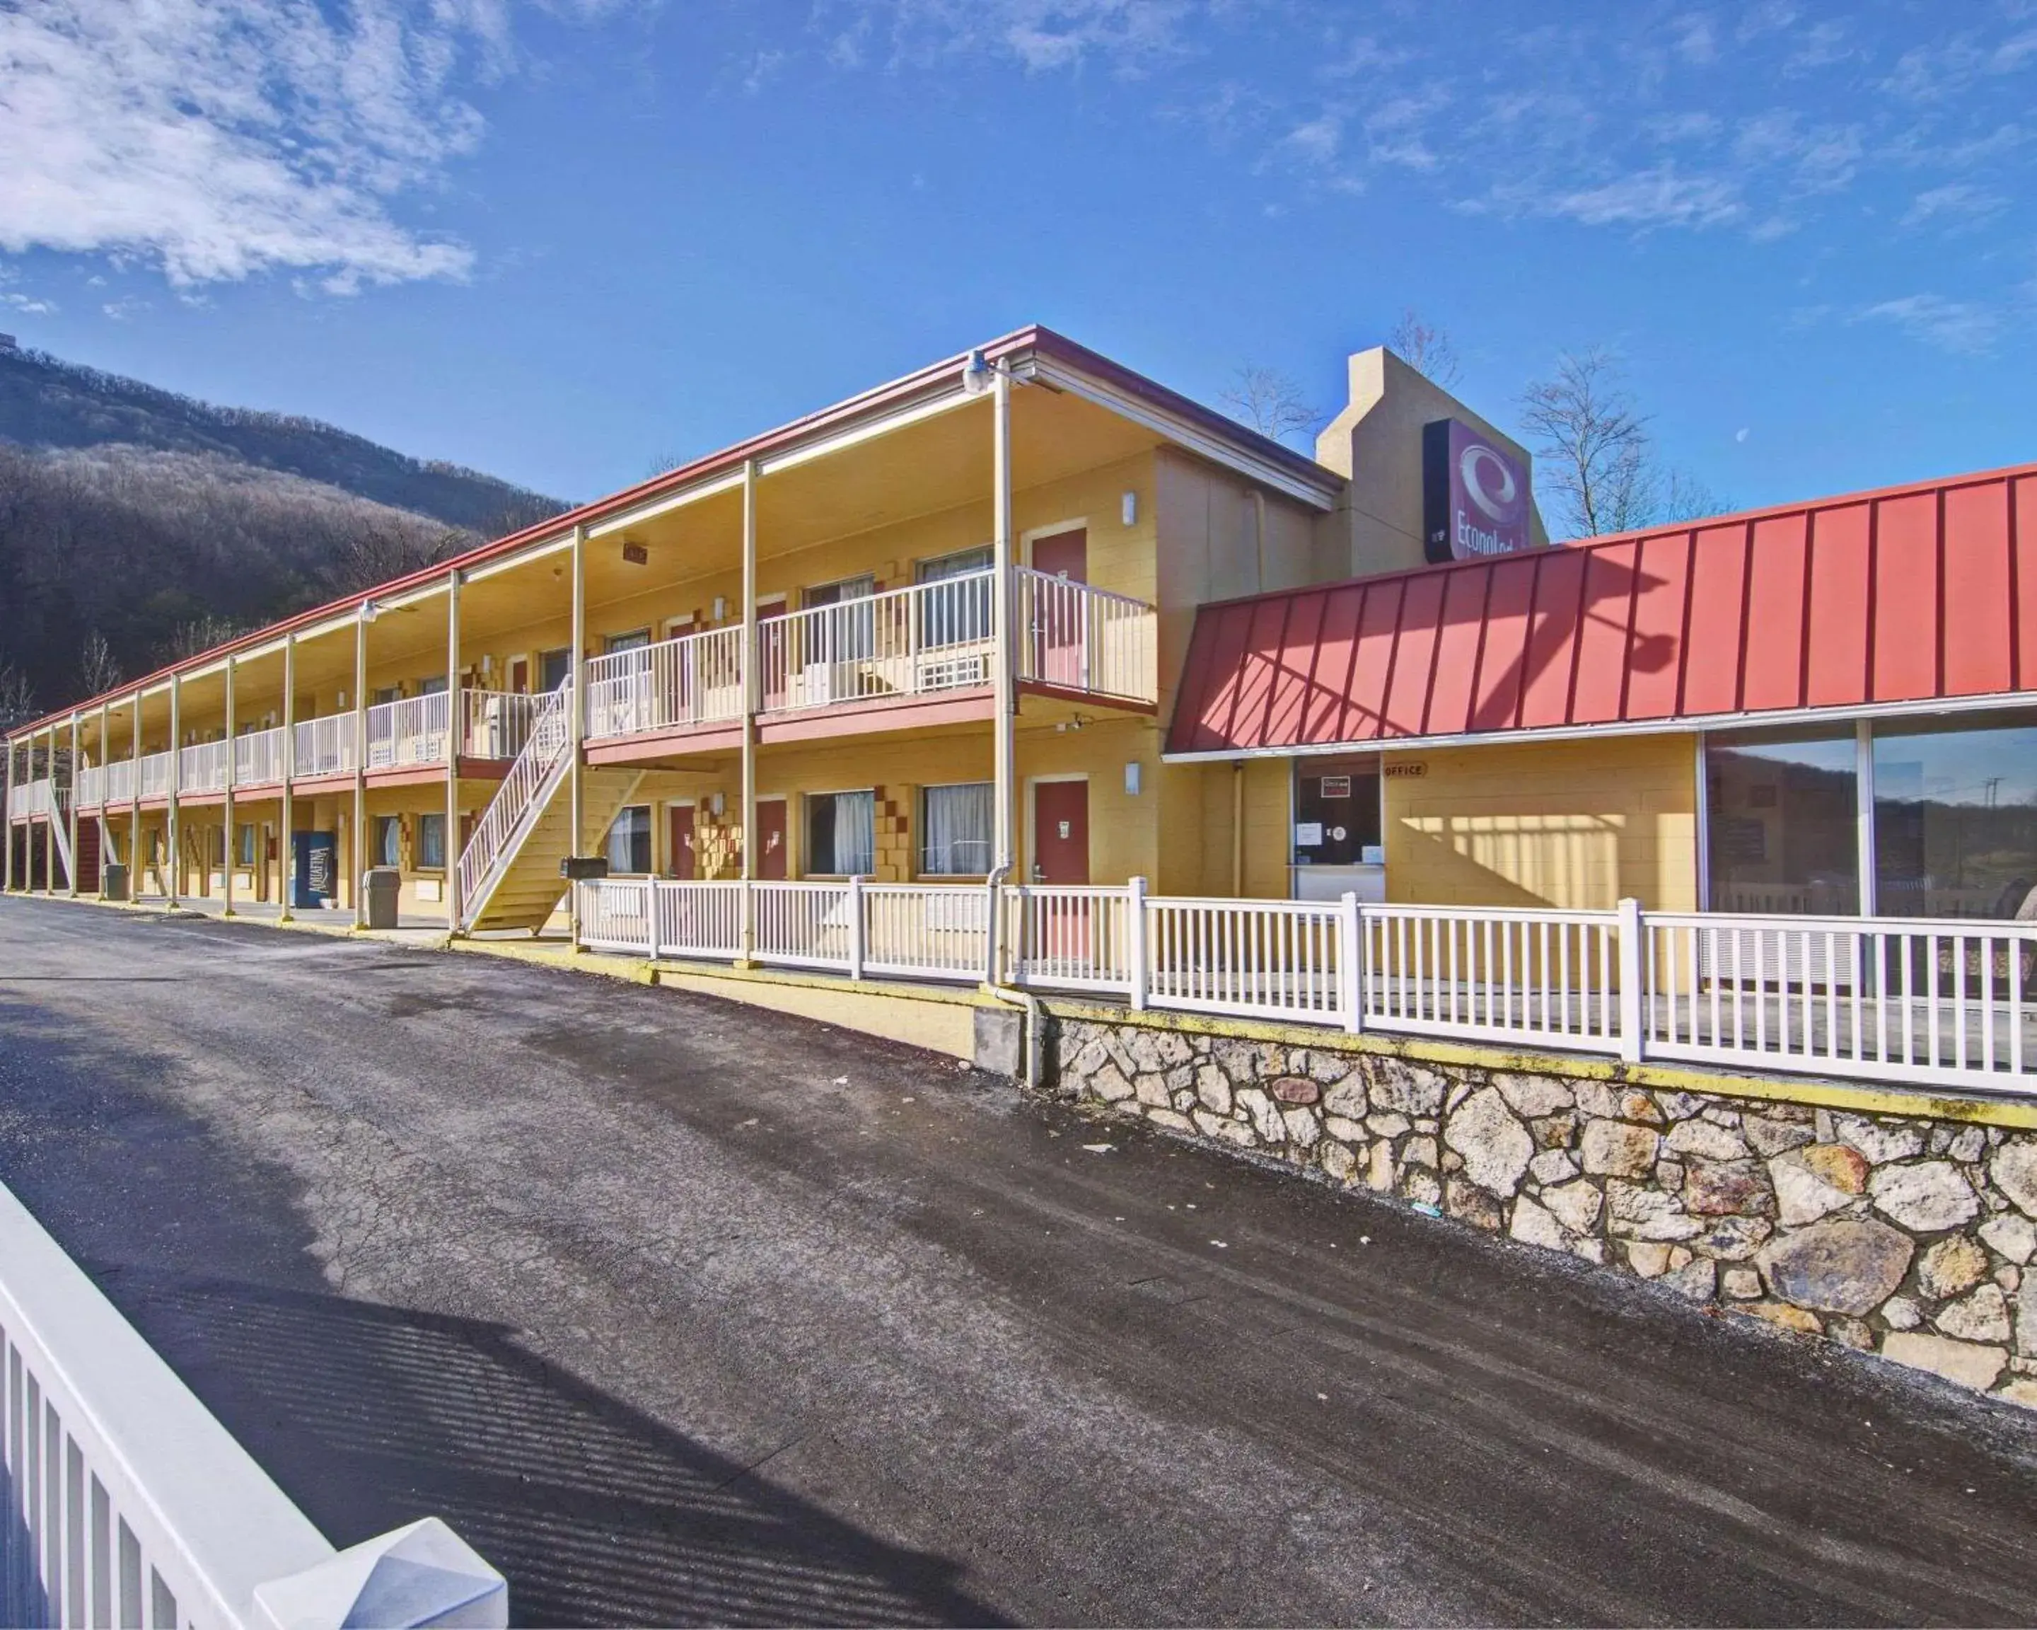
[(505, 69), (505, 6), (0, 6), (0, 251), (106, 253), (177, 287), (464, 277), (473, 255), (391, 204), (477, 145), (452, 84)]

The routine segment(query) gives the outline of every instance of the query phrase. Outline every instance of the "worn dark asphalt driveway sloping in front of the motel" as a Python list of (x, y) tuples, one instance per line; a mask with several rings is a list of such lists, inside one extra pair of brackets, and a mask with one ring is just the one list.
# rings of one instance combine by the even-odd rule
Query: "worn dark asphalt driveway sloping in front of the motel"
[(2037, 1620), (2037, 1414), (705, 996), (0, 901), (0, 1180), (524, 1622)]

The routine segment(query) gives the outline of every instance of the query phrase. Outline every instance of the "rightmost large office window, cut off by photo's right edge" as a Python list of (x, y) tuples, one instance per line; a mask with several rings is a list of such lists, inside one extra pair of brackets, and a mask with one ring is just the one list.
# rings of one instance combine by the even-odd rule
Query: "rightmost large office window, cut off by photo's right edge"
[(2037, 917), (2037, 721), (1874, 725), (1874, 909)]

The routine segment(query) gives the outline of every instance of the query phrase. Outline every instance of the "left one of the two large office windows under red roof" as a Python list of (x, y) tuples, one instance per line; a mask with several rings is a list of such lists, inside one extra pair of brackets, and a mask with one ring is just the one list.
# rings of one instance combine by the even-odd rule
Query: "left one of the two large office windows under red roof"
[(1711, 909), (1860, 911), (1854, 725), (1705, 738)]

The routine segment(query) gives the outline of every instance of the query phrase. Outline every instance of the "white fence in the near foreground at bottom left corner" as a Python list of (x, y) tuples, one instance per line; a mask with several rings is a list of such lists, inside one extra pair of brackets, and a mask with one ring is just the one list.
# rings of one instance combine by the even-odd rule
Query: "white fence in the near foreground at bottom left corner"
[(401, 1624), (507, 1622), (436, 1518), (342, 1559), (4, 1188), (0, 1404), (4, 1624), (352, 1624), (371, 1559), (422, 1587)]

